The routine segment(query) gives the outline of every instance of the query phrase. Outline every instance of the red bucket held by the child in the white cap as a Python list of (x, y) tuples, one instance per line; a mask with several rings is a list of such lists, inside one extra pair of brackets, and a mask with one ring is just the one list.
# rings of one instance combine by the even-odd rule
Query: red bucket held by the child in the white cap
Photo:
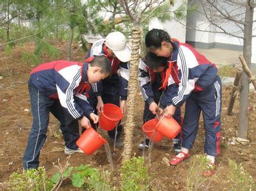
[(104, 104), (103, 112), (99, 117), (99, 126), (101, 129), (110, 131), (115, 128), (119, 120), (123, 117), (123, 113), (119, 106), (115, 104), (107, 103)]

